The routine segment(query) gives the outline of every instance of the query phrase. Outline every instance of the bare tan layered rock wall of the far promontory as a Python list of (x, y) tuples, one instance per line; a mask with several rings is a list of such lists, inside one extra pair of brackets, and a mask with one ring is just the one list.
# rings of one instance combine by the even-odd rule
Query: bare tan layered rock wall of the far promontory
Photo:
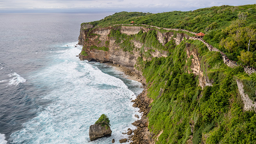
[[(135, 65), (137, 58), (139, 56), (142, 56), (141, 53), (139, 53), (140, 48), (142, 48), (143, 43), (140, 43), (139, 41), (132, 41), (135, 49), (132, 52), (125, 52), (120, 46), (115, 43), (116, 39), (113, 37), (109, 37), (110, 30), (116, 30), (120, 28), (120, 32), (122, 34), (132, 35), (137, 34), (140, 30), (143, 32), (148, 32), (150, 28), (146, 27), (128, 27), (128, 26), (122, 26), (122, 27), (105, 27), (105, 28), (94, 28), (91, 29), (92, 25), (86, 25), (82, 26), (80, 29), (80, 36), (78, 38), (79, 42), (78, 44), (83, 45), (83, 51), (85, 51), (86, 55), (82, 55), (80, 53), (79, 58), (80, 60), (96, 60), (99, 62), (113, 62), (114, 64), (119, 64), (126, 67), (131, 67)], [(173, 34), (172, 34), (173, 35)], [(164, 37), (169, 37), (170, 34), (165, 34)], [(158, 35), (158, 39), (161, 42), (166, 43), (168, 41), (168, 38), (164, 41), (164, 38), (162, 35)], [(108, 50), (99, 50), (96, 48), (91, 48), (92, 46), (97, 47), (107, 47)], [(147, 52), (149, 49), (148, 47), (144, 47), (144, 51)], [(158, 50), (154, 50), (153, 52), (150, 52), (153, 57), (167, 57), (167, 52), (160, 52)], [(151, 58), (148, 58), (149, 60)], [(144, 60), (146, 60), (144, 58)], [(138, 71), (137, 71), (138, 72)]]

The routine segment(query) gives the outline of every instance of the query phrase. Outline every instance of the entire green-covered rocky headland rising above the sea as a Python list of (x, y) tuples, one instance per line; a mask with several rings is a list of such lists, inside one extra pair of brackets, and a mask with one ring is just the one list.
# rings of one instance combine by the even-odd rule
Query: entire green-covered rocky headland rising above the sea
[[(143, 95), (149, 100), (135, 103), (148, 124), (134, 131), (134, 144), (254, 144), (256, 74), (248, 75), (242, 65), (255, 66), (255, 18), (256, 5), (119, 12), (81, 24), (80, 59), (125, 66), (146, 85)], [(121, 25), (130, 21), (137, 25)], [(192, 33), (164, 28), (204, 32), (207, 43), (240, 66), (229, 67), (222, 53), (209, 51)], [(142, 129), (151, 139), (137, 136)]]

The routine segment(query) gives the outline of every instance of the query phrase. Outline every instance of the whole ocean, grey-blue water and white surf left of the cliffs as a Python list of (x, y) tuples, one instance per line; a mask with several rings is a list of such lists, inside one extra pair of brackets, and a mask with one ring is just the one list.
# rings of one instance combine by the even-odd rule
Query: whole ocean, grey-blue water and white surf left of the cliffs
[[(141, 115), (139, 82), (80, 61), (80, 24), (113, 13), (0, 14), (0, 144), (112, 144)], [(89, 139), (106, 114), (112, 136)], [(128, 143), (128, 142), (127, 142)]]

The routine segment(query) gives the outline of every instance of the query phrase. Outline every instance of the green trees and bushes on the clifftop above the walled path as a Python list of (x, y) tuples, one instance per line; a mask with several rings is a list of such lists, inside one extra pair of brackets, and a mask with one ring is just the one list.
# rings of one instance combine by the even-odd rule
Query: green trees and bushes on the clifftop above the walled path
[[(112, 16), (107, 16), (103, 20), (90, 22), (90, 24), (96, 27), (104, 27), (116, 24), (130, 24), (131, 21), (135, 21), (137, 25), (146, 24), (161, 28), (179, 28), (192, 32), (203, 32), (205, 33), (205, 41), (226, 53), (229, 59), (243, 65), (256, 67), (255, 19), (256, 4), (242, 6), (222, 5), (195, 11), (172, 11), (157, 14), (119, 12)], [(183, 33), (187, 34), (187, 32)], [(249, 39), (251, 40), (250, 53), (247, 52)], [(242, 53), (242, 50), (245, 52)]]

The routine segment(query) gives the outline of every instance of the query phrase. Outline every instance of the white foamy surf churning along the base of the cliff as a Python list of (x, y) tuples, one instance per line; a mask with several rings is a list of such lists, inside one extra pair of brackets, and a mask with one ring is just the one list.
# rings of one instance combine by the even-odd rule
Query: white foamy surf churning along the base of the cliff
[[(133, 108), (130, 102), (131, 98), (135, 99), (135, 93), (119, 78), (103, 73), (86, 61), (80, 61), (76, 55), (82, 48), (75, 47), (76, 43), (65, 44), (69, 46), (68, 49), (54, 52), (53, 62), (29, 78), (38, 89), (50, 89), (47, 94), (38, 96), (50, 103), (41, 107), (37, 116), (24, 123), (21, 130), (11, 134), (12, 143), (86, 144), (90, 142), (89, 126), (101, 114), (109, 117), (112, 136), (91, 144), (112, 144), (112, 139), (118, 141), (128, 137), (122, 132), (135, 128), (131, 124), (136, 120), (134, 115), (140, 115), (135, 112), (139, 109)], [(132, 85), (141, 86), (135, 81)], [(140, 88), (136, 93), (141, 91)]]

